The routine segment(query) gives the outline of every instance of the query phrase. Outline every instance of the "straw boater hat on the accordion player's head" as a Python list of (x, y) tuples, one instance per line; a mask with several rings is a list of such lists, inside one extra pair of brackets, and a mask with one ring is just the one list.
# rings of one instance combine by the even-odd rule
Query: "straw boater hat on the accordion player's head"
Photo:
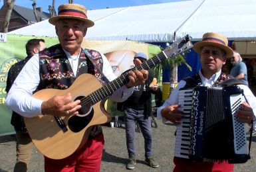
[(200, 42), (196, 42), (193, 45), (193, 50), (200, 54), (203, 46), (217, 46), (226, 53), (227, 58), (233, 56), (233, 50), (227, 46), (227, 38), (219, 33), (208, 32), (203, 34), (203, 38)]

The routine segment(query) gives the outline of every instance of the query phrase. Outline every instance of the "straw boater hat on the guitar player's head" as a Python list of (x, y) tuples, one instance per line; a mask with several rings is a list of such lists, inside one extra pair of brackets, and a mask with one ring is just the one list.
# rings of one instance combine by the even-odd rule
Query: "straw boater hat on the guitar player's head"
[(63, 4), (58, 8), (58, 15), (51, 17), (49, 22), (55, 25), (61, 19), (76, 19), (85, 22), (87, 27), (91, 27), (94, 25), (94, 22), (87, 19), (86, 14), (87, 10), (82, 5), (72, 3)]

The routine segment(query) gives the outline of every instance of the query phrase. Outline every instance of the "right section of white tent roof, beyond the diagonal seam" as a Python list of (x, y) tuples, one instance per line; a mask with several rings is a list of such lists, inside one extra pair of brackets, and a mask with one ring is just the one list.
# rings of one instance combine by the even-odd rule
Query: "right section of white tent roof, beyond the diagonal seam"
[(203, 0), (176, 34), (198, 40), (205, 32), (219, 32), (229, 40), (256, 39), (256, 0)]

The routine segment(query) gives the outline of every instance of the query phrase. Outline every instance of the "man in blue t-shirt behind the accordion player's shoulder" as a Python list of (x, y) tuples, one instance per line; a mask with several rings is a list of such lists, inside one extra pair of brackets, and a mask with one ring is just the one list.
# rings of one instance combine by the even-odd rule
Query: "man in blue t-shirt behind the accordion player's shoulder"
[(230, 71), (230, 75), (241, 80), (243, 83), (245, 83), (245, 85), (248, 85), (247, 67), (245, 63), (242, 62), (240, 54), (234, 51), (230, 62), (233, 65)]

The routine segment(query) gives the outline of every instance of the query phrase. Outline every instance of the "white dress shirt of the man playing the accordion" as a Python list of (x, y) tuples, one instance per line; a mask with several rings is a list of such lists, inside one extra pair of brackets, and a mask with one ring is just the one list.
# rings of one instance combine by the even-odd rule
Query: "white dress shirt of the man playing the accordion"
[[(199, 71), (201, 83), (203, 86), (206, 86), (206, 87), (211, 87), (213, 85), (213, 83), (215, 83), (215, 81), (217, 81), (220, 74), (221, 74), (221, 71), (218, 71), (217, 73), (212, 75), (210, 77), (210, 79), (207, 79), (207, 78), (203, 77), (203, 75), (201, 74), (201, 70)], [(184, 81), (184, 80), (180, 81), (180, 83), (177, 85), (177, 87), (172, 91), (170, 97), (164, 102), (164, 105), (162, 105), (161, 107), (158, 108), (158, 110), (157, 110), (158, 119), (162, 119), (163, 122), (167, 122), (166, 118), (162, 117), (161, 110), (162, 110), (162, 108), (168, 107), (170, 105), (178, 105), (179, 90), (181, 88), (183, 88), (185, 85), (186, 85), (186, 81)], [(249, 105), (253, 109), (253, 113), (255, 115), (256, 114), (256, 97), (253, 95), (253, 93), (251, 92), (249, 87), (247, 87), (246, 85), (237, 85), (237, 86), (240, 87), (241, 89), (243, 89), (243, 93), (245, 94), (245, 97), (246, 97)]]

